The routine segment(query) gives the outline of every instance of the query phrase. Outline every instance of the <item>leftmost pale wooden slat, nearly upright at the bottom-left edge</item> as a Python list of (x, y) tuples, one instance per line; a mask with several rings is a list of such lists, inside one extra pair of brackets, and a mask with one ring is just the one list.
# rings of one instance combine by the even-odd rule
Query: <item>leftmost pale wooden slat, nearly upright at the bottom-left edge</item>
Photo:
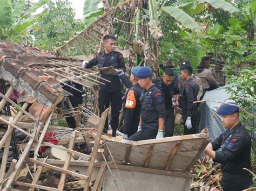
[[(12, 123), (13, 118), (10, 117), (9, 122)], [(11, 128), (11, 125), (8, 125), (8, 129)], [(2, 190), (2, 185), (4, 181), (4, 175), (5, 175), (5, 170), (6, 170), (6, 164), (8, 160), (8, 155), (9, 155), (9, 149), (10, 149), (10, 144), (11, 144), (11, 135), (6, 139), (6, 142), (4, 144), (4, 152), (3, 152), (3, 157), (2, 157), (2, 163), (1, 163), (1, 172), (0, 172), (0, 190)]]

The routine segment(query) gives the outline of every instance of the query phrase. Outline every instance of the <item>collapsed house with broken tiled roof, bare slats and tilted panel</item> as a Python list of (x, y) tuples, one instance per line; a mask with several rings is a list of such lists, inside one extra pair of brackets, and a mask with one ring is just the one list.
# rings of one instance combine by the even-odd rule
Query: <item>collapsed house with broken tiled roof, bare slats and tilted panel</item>
[[(206, 130), (139, 142), (102, 136), (108, 109), (97, 116), (100, 72), (83, 69), (84, 56), (66, 53), (77, 48), (88, 55), (95, 44), (100, 49), (112, 31), (109, 13), (56, 52), (0, 41), (1, 190), (190, 189), (191, 168), (209, 142)], [(78, 108), (63, 89), (76, 89), (68, 82), (86, 87)], [(56, 125), (67, 116), (76, 129)]]

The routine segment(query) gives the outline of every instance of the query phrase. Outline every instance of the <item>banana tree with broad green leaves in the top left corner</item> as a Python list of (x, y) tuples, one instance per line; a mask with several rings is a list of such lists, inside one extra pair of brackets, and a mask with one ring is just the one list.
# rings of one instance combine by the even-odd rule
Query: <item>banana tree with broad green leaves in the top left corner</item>
[(2, 0), (0, 6), (0, 39), (20, 43), (23, 38), (28, 36), (29, 28), (42, 16), (41, 13), (36, 14), (36, 11), (48, 1), (39, 0), (23, 13), (25, 0), (18, 0), (14, 8), (12, 8), (11, 0)]

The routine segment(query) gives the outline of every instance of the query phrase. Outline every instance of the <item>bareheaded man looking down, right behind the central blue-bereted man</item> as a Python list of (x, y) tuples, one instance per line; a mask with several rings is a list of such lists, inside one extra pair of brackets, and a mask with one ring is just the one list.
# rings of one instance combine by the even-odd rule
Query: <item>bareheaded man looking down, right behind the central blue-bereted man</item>
[(179, 106), (179, 87), (177, 82), (178, 76), (174, 74), (173, 69), (167, 68), (162, 77), (153, 79), (158, 89), (164, 94), (165, 101), (165, 136), (172, 137), (174, 130), (174, 108), (172, 99), (177, 106)]

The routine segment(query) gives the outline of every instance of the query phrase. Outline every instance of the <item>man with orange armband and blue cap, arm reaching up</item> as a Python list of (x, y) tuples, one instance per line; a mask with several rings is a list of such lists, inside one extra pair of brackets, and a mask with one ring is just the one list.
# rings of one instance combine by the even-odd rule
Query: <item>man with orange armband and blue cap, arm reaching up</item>
[(123, 111), (124, 111), (124, 125), (123, 125), (123, 138), (128, 139), (138, 131), (140, 109), (142, 108), (142, 97), (144, 90), (139, 86), (139, 79), (135, 75), (139, 67), (134, 67), (131, 70), (130, 78), (124, 72), (119, 73), (120, 79), (124, 82), (125, 86), (129, 88), (123, 98)]

